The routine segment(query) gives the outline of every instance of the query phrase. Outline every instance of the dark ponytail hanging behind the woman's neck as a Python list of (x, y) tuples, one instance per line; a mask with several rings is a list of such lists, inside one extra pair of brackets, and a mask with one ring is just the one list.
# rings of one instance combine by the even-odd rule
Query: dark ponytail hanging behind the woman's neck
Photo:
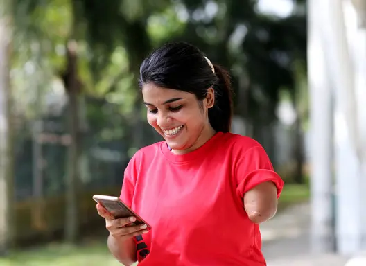
[(232, 127), (232, 85), (229, 73), (214, 64), (218, 81), (214, 85), (215, 104), (209, 109), (209, 122), (216, 132), (230, 132)]

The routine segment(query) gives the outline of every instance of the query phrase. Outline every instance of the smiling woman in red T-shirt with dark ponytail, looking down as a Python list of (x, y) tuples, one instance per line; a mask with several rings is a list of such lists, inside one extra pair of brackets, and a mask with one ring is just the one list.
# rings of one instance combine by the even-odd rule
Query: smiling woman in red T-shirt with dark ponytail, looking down
[(265, 265), (259, 224), (284, 183), (259, 143), (229, 133), (227, 72), (195, 46), (166, 44), (141, 64), (139, 85), (165, 141), (134, 154), (121, 200), (152, 229), (97, 205), (112, 254), (124, 265)]

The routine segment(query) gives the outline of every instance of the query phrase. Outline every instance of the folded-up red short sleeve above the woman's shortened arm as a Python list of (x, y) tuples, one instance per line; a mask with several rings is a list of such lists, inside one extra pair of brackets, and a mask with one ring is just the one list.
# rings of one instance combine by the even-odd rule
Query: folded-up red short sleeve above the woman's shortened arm
[(236, 157), (235, 175), (237, 181), (236, 194), (240, 197), (255, 186), (272, 181), (277, 187), (277, 198), (284, 188), (284, 181), (273, 170), (272, 163), (261, 145), (256, 145)]

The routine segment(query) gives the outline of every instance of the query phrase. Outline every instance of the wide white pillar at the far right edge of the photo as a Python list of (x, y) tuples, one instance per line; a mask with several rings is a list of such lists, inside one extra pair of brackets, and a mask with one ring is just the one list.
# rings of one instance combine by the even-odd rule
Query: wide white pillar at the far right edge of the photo
[[(361, 116), (357, 100), (358, 89), (356, 89), (363, 84), (358, 74), (360, 64), (356, 62), (365, 60), (362, 59), (365, 53), (354, 46), (356, 43), (360, 44), (360, 35), (356, 34), (356, 12), (354, 10), (351, 12), (353, 7), (350, 1), (327, 1), (328, 52), (333, 58), (330, 69), (336, 89), (336, 236), (338, 251), (344, 255), (351, 255), (362, 249), (363, 227), (366, 224), (362, 209), (362, 206), (366, 205), (363, 199), (366, 188), (360, 168)], [(365, 88), (365, 85), (362, 86)]]

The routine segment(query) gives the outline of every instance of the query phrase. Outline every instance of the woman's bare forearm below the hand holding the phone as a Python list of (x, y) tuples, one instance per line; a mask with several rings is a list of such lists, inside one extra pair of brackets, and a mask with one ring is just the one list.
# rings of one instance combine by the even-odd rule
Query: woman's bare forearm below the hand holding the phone
[(130, 266), (137, 261), (136, 244), (133, 238), (123, 240), (110, 235), (108, 236), (107, 243), (114, 258), (123, 265)]

